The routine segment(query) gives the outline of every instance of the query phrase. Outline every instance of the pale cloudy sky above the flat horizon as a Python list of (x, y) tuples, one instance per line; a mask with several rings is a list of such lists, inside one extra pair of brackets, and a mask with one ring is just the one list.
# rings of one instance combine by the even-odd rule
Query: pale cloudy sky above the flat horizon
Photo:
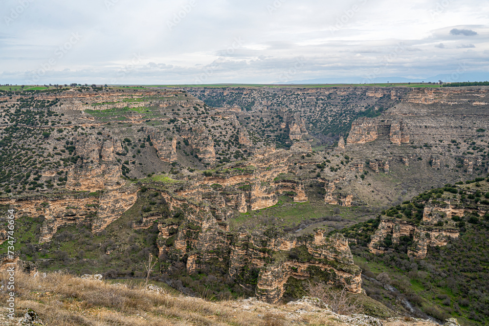
[(472, 72), (489, 72), (489, 0), (0, 3), (0, 84), (457, 81)]

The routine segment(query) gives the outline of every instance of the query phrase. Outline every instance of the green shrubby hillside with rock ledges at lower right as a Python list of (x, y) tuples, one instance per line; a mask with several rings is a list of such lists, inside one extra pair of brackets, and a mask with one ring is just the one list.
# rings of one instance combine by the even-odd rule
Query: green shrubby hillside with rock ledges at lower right
[[(370, 297), (391, 308), (399, 304), (383, 288), (391, 284), (433, 317), (484, 324), (489, 311), (488, 198), (489, 179), (446, 185), (337, 232), (349, 238)], [(388, 275), (375, 276), (380, 272)]]

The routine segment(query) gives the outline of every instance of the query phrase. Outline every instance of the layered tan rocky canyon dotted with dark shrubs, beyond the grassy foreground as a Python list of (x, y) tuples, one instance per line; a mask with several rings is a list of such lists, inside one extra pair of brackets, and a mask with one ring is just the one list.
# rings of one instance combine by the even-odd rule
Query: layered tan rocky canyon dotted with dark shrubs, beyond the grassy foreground
[[(3, 91), (0, 204), (16, 212), (16, 254), (45, 270), (137, 277), (152, 253), (160, 277), (187, 294), (205, 283), (223, 298), (277, 303), (297, 298), (297, 280), (308, 279), (360, 293), (348, 243), (365, 239), (330, 235), (338, 224), (321, 221), (341, 221), (341, 212), (351, 218), (360, 208), (367, 213), (355, 222), (381, 213), (368, 241), (377, 255), (410, 239), (406, 254), (423, 259), (430, 247), (458, 238), (453, 217), (468, 217), (464, 196), (482, 193), (453, 184), (487, 174), (488, 92)], [(457, 193), (409, 202), (443, 185)], [(477, 203), (470, 212), (485, 214)], [(288, 219), (307, 205), (325, 216)], [(2, 253), (6, 239), (1, 230)]]

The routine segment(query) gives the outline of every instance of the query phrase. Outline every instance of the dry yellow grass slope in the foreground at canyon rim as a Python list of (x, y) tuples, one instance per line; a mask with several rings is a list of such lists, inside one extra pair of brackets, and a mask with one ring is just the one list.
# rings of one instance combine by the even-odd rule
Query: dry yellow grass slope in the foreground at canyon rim
[[(279, 305), (253, 298), (208, 302), (145, 291), (138, 285), (125, 287), (55, 273), (45, 278), (16, 273), (16, 298), (16, 317), (22, 317), (25, 309), (30, 308), (46, 326), (381, 325), (377, 319), (365, 315), (337, 315), (311, 300)], [(6, 299), (6, 291), (0, 291), (0, 302), (5, 303)], [(4, 315), (4, 311), (0, 313)], [(0, 319), (0, 325), (15, 325), (16, 322)]]

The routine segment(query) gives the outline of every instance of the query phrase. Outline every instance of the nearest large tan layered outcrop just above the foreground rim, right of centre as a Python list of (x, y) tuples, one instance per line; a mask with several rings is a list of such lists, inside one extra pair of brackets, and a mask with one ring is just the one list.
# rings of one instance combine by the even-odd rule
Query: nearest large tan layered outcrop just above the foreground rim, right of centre
[(326, 238), (324, 233), (319, 229), (314, 235), (294, 237), (273, 230), (241, 230), (232, 245), (230, 275), (239, 278), (244, 269), (259, 268), (256, 295), (272, 303), (283, 296), (289, 277), (319, 276), (360, 293), (360, 269), (353, 264), (348, 240), (341, 235)]

